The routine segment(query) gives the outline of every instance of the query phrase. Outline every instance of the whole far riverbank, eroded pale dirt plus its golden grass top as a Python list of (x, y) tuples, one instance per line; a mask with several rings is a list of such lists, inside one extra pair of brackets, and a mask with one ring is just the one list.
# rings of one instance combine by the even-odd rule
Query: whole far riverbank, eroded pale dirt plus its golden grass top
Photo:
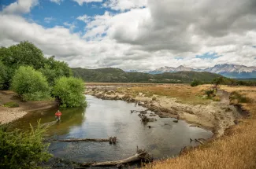
[(186, 84), (87, 84), (86, 94), (109, 100), (133, 101), (155, 112), (161, 118), (184, 119), (192, 126), (212, 130), (221, 137), (224, 130), (235, 124), (239, 112), (229, 105), (228, 94), (217, 92), (220, 101), (206, 99), (210, 85), (191, 87)]

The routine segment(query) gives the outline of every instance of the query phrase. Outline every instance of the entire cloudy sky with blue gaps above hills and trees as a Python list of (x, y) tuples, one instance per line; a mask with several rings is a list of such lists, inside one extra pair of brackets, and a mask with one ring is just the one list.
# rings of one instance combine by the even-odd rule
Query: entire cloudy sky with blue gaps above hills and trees
[(0, 46), (70, 67), (256, 66), (256, 0), (0, 0)]

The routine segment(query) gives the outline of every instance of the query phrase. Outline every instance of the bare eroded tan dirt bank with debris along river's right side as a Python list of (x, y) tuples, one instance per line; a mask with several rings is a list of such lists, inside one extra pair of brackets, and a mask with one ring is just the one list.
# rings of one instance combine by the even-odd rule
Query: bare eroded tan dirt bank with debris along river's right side
[[(239, 112), (229, 105), (229, 96), (223, 90), (217, 91), (221, 101), (208, 101), (207, 104), (190, 105), (180, 103), (176, 97), (159, 95), (147, 96), (142, 92), (132, 93), (132, 86), (118, 88), (113, 85), (87, 86), (86, 94), (109, 100), (132, 101), (156, 112), (161, 118), (174, 117), (184, 119), (195, 127), (202, 127), (213, 131), (215, 137), (224, 134), (224, 130), (236, 123)], [(147, 86), (146, 86), (147, 87)], [(169, 85), (168, 87), (172, 87)], [(181, 86), (182, 87), (182, 86)]]

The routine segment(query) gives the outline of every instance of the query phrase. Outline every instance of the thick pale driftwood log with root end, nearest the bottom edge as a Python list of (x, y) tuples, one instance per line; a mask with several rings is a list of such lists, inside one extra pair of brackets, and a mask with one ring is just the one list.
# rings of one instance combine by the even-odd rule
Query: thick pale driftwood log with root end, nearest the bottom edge
[(147, 153), (146, 150), (138, 149), (135, 155), (128, 157), (124, 160), (117, 160), (117, 161), (105, 161), (99, 163), (81, 163), (81, 167), (103, 167), (103, 166), (117, 166), (121, 167), (125, 163), (132, 163), (135, 161), (142, 160), (144, 162), (151, 162), (153, 158)]

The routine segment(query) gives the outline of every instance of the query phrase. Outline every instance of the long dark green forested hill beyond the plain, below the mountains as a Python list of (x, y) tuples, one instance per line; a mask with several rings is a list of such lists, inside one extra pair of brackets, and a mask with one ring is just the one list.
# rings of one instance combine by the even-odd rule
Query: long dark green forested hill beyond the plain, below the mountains
[(165, 72), (152, 75), (143, 72), (124, 72), (119, 68), (72, 68), (72, 71), (85, 82), (98, 83), (191, 83), (193, 79), (211, 82), (221, 77), (210, 72)]

